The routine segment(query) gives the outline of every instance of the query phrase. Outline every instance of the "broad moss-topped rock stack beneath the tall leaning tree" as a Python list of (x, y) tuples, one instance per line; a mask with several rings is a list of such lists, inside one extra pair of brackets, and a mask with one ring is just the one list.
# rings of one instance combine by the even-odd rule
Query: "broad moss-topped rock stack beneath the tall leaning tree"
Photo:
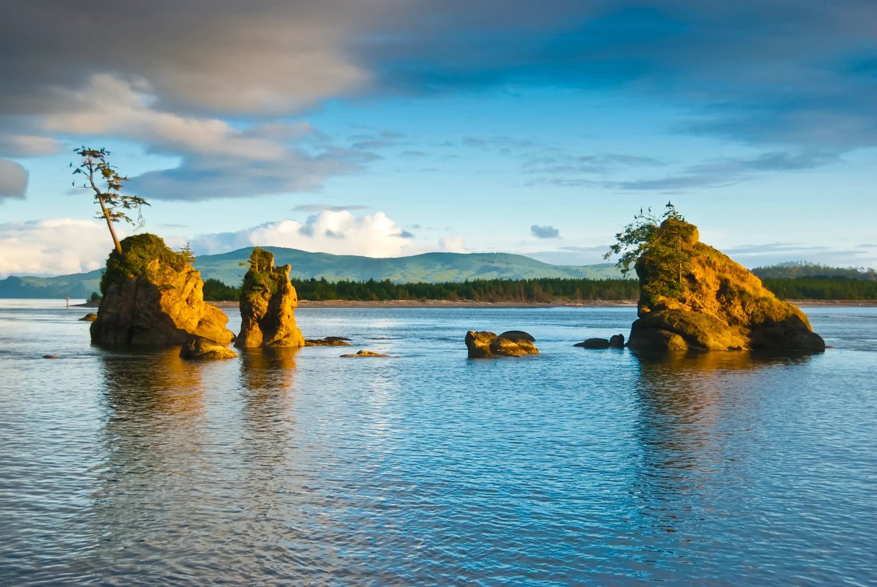
[(101, 278), (103, 300), (91, 323), (91, 342), (104, 346), (183, 344), (197, 336), (232, 342), (228, 317), (204, 303), (201, 273), (191, 253), (175, 252), (151, 234), (134, 235), (112, 251)]

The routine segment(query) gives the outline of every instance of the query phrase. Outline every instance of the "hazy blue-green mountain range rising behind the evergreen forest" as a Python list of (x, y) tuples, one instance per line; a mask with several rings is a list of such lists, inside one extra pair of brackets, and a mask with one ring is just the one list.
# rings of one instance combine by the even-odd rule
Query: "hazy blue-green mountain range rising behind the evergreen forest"
[[(292, 277), (349, 279), (389, 279), (396, 283), (464, 281), (466, 279), (535, 279), (557, 277), (573, 279), (617, 279), (615, 265), (550, 265), (510, 253), (431, 252), (413, 257), (371, 258), (354, 255), (299, 251), (264, 247), (275, 255), (275, 265), (291, 265)], [(221, 255), (203, 255), (195, 262), (203, 279), (218, 279), (239, 285), (246, 272), (251, 248)], [(244, 264), (244, 265), (241, 265)], [(98, 291), (101, 271), (60, 277), (9, 277), (0, 279), (0, 298), (88, 298)]]

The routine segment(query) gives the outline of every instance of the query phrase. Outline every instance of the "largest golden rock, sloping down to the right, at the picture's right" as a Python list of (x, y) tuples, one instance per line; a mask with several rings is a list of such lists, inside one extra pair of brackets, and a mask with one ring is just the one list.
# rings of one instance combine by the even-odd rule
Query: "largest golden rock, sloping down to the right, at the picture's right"
[(639, 258), (639, 319), (631, 326), (631, 349), (825, 349), (800, 309), (777, 299), (742, 265), (700, 243), (697, 227), (673, 220), (661, 224), (660, 230), (666, 229), (674, 230), (679, 254), (670, 261), (649, 252)]

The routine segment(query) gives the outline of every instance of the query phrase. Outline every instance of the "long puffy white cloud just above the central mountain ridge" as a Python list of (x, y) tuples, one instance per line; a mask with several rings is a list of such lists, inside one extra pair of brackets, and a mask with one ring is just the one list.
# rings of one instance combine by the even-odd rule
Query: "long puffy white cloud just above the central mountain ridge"
[(208, 255), (258, 245), (335, 255), (397, 257), (408, 249), (411, 237), (383, 212), (353, 216), (347, 210), (323, 210), (304, 223), (287, 219), (237, 232), (201, 235), (191, 243), (198, 254)]

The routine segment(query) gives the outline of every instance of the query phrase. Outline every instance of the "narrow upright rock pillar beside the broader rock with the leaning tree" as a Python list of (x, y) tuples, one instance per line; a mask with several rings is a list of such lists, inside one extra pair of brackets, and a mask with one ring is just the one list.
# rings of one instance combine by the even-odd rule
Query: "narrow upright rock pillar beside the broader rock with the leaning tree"
[(240, 334), (237, 347), (300, 347), (296, 327), (296, 288), (289, 283), (289, 265), (274, 266), (274, 255), (256, 247), (240, 295)]

